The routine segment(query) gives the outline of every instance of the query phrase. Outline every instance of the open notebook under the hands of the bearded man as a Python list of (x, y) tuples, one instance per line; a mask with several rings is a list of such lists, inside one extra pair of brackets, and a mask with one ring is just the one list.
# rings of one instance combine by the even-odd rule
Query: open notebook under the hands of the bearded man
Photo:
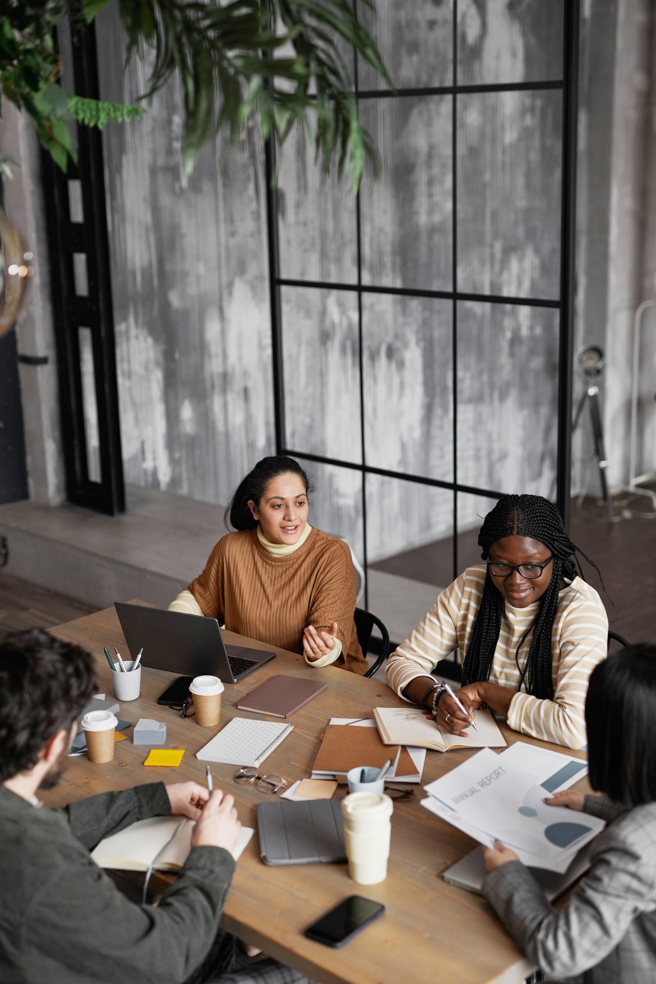
[[(139, 820), (125, 830), (105, 837), (91, 851), (91, 858), (100, 868), (115, 868), (118, 871), (148, 871), (158, 852), (173, 835), (180, 824), (180, 817), (150, 817)], [(157, 858), (157, 871), (179, 871), (191, 850), (193, 820), (184, 820), (160, 858)], [(232, 856), (237, 860), (253, 836), (252, 827), (242, 827), (239, 840)]]

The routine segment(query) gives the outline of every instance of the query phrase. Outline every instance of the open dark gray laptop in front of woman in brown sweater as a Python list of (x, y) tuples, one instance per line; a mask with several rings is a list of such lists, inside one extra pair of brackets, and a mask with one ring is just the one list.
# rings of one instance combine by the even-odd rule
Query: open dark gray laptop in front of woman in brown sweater
[(223, 683), (236, 683), (275, 655), (265, 649), (226, 646), (215, 618), (123, 601), (116, 601), (114, 608), (132, 658), (143, 646), (142, 665), (156, 670), (187, 676), (209, 673)]

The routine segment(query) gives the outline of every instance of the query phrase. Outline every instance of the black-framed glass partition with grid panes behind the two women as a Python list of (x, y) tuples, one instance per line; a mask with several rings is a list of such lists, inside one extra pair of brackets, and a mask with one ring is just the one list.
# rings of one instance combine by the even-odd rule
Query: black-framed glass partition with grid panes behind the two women
[(323, 181), (302, 132), (268, 151), (276, 440), (407, 631), (499, 494), (567, 519), (578, 6), (376, 7), (396, 92), (354, 85), (381, 183)]

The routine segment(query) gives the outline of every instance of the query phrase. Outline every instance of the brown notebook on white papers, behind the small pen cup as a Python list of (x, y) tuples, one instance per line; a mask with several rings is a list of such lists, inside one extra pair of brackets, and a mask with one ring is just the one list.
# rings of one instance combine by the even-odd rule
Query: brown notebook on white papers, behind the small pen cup
[[(356, 766), (381, 769), (388, 759), (395, 761), (397, 752), (398, 745), (384, 745), (376, 728), (328, 724), (313, 771), (342, 774)], [(417, 774), (417, 767), (405, 747), (401, 747), (393, 774), (394, 777)]]

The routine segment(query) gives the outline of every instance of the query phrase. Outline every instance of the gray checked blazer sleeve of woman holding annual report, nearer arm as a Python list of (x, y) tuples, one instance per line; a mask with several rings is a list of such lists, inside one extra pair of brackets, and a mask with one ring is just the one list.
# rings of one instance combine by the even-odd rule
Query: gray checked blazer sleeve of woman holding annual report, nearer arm
[[(645, 853), (649, 846), (653, 851), (652, 831), (642, 832)], [(590, 871), (558, 911), (519, 861), (486, 876), (486, 897), (517, 945), (548, 975), (571, 977), (596, 966), (631, 922), (654, 908), (653, 866), (631, 842), (639, 844), (639, 837), (619, 827), (599, 834)]]

